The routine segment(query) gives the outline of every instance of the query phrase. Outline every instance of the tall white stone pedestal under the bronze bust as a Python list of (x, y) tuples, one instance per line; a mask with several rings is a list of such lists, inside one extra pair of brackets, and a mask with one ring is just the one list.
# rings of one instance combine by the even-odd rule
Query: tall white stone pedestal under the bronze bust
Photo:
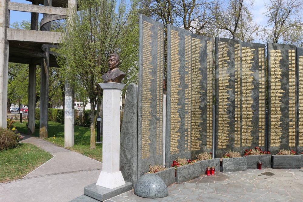
[(102, 172), (96, 185), (114, 189), (125, 185), (120, 166), (120, 92), (125, 84), (101, 83), (103, 92)]

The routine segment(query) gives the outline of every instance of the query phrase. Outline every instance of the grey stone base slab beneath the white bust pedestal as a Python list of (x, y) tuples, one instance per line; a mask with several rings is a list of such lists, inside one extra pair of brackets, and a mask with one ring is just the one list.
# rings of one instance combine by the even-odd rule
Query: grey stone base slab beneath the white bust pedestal
[(104, 201), (109, 198), (123, 194), (124, 192), (127, 192), (129, 190), (132, 190), (132, 183), (126, 181), (125, 181), (125, 185), (122, 185), (114, 189), (101, 187), (96, 185), (96, 183), (94, 183), (84, 187), (84, 194), (96, 200)]

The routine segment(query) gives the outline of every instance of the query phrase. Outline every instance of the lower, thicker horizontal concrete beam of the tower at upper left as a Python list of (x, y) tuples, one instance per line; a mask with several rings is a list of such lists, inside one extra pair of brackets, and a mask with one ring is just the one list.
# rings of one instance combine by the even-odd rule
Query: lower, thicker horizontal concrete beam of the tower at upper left
[(8, 41), (28, 41), (39, 42), (41, 44), (60, 44), (62, 35), (65, 35), (65, 33), (7, 28)]

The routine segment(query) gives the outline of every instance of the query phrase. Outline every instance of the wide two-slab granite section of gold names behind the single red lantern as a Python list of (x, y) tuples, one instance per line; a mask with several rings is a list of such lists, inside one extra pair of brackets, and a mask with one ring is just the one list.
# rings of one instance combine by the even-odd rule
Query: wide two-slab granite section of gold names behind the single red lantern
[(215, 156), (265, 150), (265, 45), (215, 38)]

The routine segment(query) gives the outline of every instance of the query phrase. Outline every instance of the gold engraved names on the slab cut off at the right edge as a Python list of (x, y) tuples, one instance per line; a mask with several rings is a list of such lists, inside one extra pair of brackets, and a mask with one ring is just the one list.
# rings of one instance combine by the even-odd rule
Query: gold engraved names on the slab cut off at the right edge
[(303, 56), (298, 57), (298, 80), (299, 80), (299, 147), (303, 147)]

